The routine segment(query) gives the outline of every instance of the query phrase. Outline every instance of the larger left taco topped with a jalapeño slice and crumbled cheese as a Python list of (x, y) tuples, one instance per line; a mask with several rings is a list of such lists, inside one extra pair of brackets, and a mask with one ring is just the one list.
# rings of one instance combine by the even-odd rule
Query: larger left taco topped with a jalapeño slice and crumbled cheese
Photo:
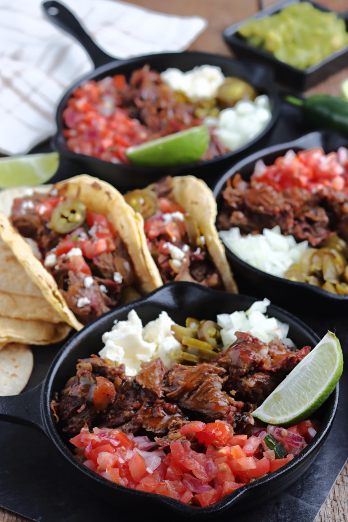
[(77, 330), (161, 286), (143, 221), (111, 185), (88, 175), (0, 194), (0, 235), (41, 296)]

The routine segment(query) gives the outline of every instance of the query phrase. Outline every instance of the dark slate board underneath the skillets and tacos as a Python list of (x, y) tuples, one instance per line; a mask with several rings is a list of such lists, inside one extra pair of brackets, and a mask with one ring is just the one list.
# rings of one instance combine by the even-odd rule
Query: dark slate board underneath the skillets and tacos
[[(273, 131), (263, 141), (247, 151), (244, 157), (261, 148), (284, 143), (311, 131), (303, 124), (298, 110), (283, 104), (281, 117)], [(42, 144), (33, 152), (50, 150), (49, 143)], [(235, 158), (234, 162), (242, 157)], [(69, 175), (81, 173), (78, 165), (62, 160), (59, 171), (52, 181), (62, 180)], [(253, 288), (241, 287), (241, 293), (253, 295)], [(257, 295), (256, 295), (257, 296)], [(263, 298), (263, 296), (259, 297)], [(301, 317), (302, 321), (322, 337), (329, 329), (334, 331), (342, 343), (343, 351), (348, 346), (348, 327), (346, 316), (328, 316), (310, 313), (301, 309), (289, 310)], [(26, 389), (39, 384), (61, 345), (33, 347), (34, 370)], [(316, 517), (322, 503), (340, 473), (348, 457), (348, 417), (345, 411), (345, 397), (348, 396), (348, 370), (340, 380), (340, 399), (332, 430), (321, 452), (311, 468), (298, 481), (279, 497), (258, 506), (248, 506), (247, 513), (237, 512), (236, 508), (219, 516), (219, 522), (231, 520), (245, 522), (311, 522)], [(127, 520), (152, 522), (159, 513), (141, 513), (141, 504), (129, 506), (120, 511), (82, 489), (76, 471), (53, 444), (43, 434), (7, 422), (0, 422), (0, 505), (39, 522), (81, 522), (81, 520)], [(161, 513), (163, 516), (163, 513)], [(168, 522), (174, 517), (165, 513)]]

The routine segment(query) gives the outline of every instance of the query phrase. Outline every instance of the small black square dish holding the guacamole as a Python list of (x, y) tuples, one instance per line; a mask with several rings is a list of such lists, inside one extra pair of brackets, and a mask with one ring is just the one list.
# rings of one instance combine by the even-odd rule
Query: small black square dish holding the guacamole
[[(300, 2), (307, 0), (299, 0)], [(284, 0), (271, 7), (262, 9), (254, 18), (259, 19), (265, 16), (279, 13), (285, 6), (293, 4), (294, 0)], [(311, 5), (321, 11), (337, 13), (340, 18), (345, 20), (346, 28), (348, 27), (348, 12), (338, 13), (324, 7), (316, 2), (309, 2)], [(275, 58), (271, 53), (263, 51), (256, 46), (248, 44), (239, 34), (238, 29), (245, 24), (246, 20), (235, 23), (227, 27), (223, 31), (223, 38), (230, 46), (232, 51), (239, 58), (251, 58), (259, 63), (267, 64), (274, 69), (275, 78), (287, 87), (291, 87), (297, 91), (305, 91), (313, 87), (320, 81), (325, 80), (328, 76), (337, 73), (338, 70), (345, 67), (348, 63), (348, 46), (345, 46), (338, 52), (330, 54), (318, 64), (307, 67), (306, 69), (298, 69), (291, 65), (287, 65)]]

